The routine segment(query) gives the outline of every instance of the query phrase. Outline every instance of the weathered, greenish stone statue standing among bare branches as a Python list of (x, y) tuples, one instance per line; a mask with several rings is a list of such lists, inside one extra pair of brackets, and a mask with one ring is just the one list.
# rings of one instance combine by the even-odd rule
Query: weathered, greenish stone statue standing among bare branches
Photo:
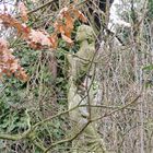
[[(76, 32), (80, 49), (74, 55), (68, 55), (70, 67), (68, 105), (72, 120), (72, 134), (78, 133), (89, 121), (96, 117), (96, 105), (92, 78), (94, 76), (95, 36), (91, 26), (81, 25)], [(80, 105), (84, 105), (80, 107)], [(97, 133), (96, 122), (91, 122), (72, 142), (73, 153), (106, 153), (103, 139)]]

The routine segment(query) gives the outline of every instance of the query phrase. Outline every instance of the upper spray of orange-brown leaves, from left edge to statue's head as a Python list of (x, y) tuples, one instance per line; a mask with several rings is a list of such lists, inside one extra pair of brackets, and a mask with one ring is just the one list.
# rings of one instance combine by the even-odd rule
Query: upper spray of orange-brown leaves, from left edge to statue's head
[[(23, 2), (20, 3), (21, 16), (23, 21), (27, 21), (27, 9)], [(32, 30), (26, 26), (26, 24), (22, 24), (16, 19), (12, 17), (9, 14), (0, 14), (0, 20), (5, 26), (12, 26), (17, 30), (19, 34), (22, 34), (22, 38), (30, 44), (30, 46), (34, 49), (43, 49), (43, 48), (56, 48), (58, 42), (58, 34), (61, 34), (62, 38), (72, 44), (71, 33), (74, 28), (75, 20), (82, 20), (86, 22), (85, 16), (76, 10), (73, 5), (69, 8), (61, 9), (60, 13), (57, 15), (57, 21), (54, 24), (55, 32), (54, 35), (49, 35), (47, 32), (42, 32), (39, 30)]]

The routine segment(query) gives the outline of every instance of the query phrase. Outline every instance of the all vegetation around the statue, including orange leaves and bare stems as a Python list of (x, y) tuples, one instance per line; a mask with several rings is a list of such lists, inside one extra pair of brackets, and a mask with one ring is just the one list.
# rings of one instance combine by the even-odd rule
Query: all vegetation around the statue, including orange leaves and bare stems
[[(1, 4), (7, 8), (8, 2), (12, 1)], [(15, 4), (11, 15), (7, 10), (0, 12), (1, 34), (8, 40), (8, 48), (0, 51), (0, 152), (72, 153), (67, 56), (80, 49), (78, 27), (84, 23), (92, 26), (83, 15), (85, 9), (81, 10), (86, 1)], [(98, 36), (95, 30), (97, 105), (93, 107), (98, 108), (98, 117), (92, 119), (108, 153), (152, 153), (153, 2), (129, 0), (118, 7), (130, 26), (116, 25), (115, 34), (104, 24)], [(102, 22), (107, 22), (107, 15), (105, 12)]]

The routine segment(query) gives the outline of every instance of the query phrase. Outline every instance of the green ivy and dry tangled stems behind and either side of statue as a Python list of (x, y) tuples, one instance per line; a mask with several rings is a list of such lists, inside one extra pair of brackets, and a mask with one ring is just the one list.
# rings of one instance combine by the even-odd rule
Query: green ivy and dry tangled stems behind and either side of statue
[[(122, 5), (126, 5), (126, 2)], [(133, 10), (128, 12), (129, 9), (125, 10), (121, 15), (131, 23), (131, 27), (117, 26), (117, 35), (121, 37), (126, 46), (118, 45), (114, 40), (114, 35), (106, 35), (106, 42), (98, 50), (96, 79), (99, 85), (98, 101), (103, 106), (99, 108), (102, 119), (98, 121), (98, 132), (104, 137), (109, 152), (151, 153), (153, 151), (152, 5), (152, 0), (149, 0), (149, 7), (144, 4), (144, 8), (140, 10), (137, 8), (134, 12)], [(35, 7), (28, 1), (28, 9), (35, 9)], [(47, 22), (55, 20), (57, 12), (59, 11), (51, 11), (50, 7), (37, 13), (34, 12), (30, 15), (28, 24), (34, 28), (43, 27), (51, 33), (52, 27)], [(137, 20), (133, 20), (133, 14), (137, 15)], [(75, 22), (72, 32), (73, 40), (79, 25), (81, 23)], [(14, 31), (11, 33), (14, 35)], [(74, 42), (73, 47), (70, 47), (59, 36), (59, 46), (54, 50), (57, 60), (55, 76), (50, 70), (52, 66), (50, 50), (32, 49), (17, 38), (12, 42), (11, 34), (7, 37), (30, 79), (27, 82), (22, 82), (14, 75), (2, 79), (0, 83), (0, 133), (19, 134), (28, 130), (31, 126), (68, 109), (67, 52), (76, 52), (79, 44)], [(98, 39), (98, 43), (102, 42)], [(131, 103), (138, 96), (133, 105), (120, 110), (120, 107)], [(119, 110), (103, 118), (116, 109)], [(40, 123), (25, 139), (12, 141), (1, 138), (0, 152), (42, 153), (50, 144), (70, 137), (71, 123), (68, 114), (64, 114)], [(50, 153), (71, 153), (72, 150), (71, 141), (66, 141), (55, 145)]]

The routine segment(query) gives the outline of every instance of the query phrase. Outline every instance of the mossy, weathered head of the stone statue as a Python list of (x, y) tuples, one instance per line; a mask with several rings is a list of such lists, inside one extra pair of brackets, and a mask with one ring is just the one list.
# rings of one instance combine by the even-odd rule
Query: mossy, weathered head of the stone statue
[(94, 31), (89, 25), (81, 25), (79, 26), (78, 32), (76, 32), (76, 40), (83, 42), (85, 39), (90, 42), (94, 42), (95, 40)]

